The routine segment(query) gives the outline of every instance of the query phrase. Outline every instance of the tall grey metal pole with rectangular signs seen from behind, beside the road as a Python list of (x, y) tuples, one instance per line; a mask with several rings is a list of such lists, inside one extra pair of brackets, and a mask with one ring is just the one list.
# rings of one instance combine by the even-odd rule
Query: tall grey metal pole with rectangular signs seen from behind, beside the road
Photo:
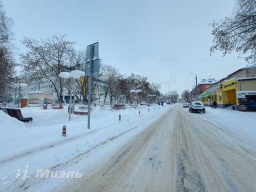
[(89, 94), (88, 94), (88, 125), (90, 129), (91, 117), (91, 95), (92, 95), (92, 74), (100, 72), (100, 59), (98, 59), (98, 42), (87, 46), (85, 75), (89, 76)]

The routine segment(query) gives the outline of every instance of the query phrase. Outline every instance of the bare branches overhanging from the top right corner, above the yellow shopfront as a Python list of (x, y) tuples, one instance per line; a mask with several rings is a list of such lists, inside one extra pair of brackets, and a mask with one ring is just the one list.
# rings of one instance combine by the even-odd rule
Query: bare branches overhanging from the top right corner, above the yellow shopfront
[(210, 24), (213, 28), (213, 46), (223, 52), (223, 56), (232, 51), (239, 53), (249, 63), (256, 61), (256, 1), (238, 0), (232, 17)]

